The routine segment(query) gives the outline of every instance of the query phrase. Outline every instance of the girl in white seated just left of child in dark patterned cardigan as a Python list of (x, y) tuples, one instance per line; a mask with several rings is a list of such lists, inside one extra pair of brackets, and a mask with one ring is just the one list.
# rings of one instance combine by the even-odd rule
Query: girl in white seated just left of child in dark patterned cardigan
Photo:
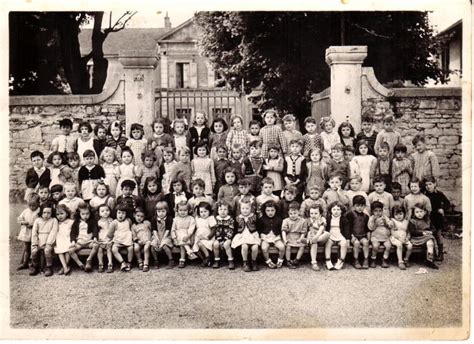
[(212, 252), (214, 245), (214, 232), (216, 230), (216, 219), (212, 216), (212, 206), (210, 203), (201, 202), (196, 208), (195, 217), (196, 233), (194, 234), (193, 252), (202, 258), (202, 266), (209, 266), (209, 252)]

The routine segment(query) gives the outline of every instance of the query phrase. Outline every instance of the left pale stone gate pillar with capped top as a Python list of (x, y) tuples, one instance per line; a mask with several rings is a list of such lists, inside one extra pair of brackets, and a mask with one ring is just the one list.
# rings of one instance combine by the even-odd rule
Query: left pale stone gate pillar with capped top
[(125, 122), (129, 135), (130, 125), (140, 123), (145, 135), (152, 132), (151, 124), (155, 117), (154, 69), (158, 64), (156, 52), (121, 51), (119, 61), (125, 73)]

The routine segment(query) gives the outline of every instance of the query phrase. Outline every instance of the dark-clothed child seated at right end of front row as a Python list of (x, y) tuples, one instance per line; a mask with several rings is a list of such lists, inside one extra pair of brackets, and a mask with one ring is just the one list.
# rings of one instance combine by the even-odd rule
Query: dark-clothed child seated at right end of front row
[(439, 267), (434, 262), (434, 254), (438, 250), (436, 238), (433, 236), (428, 210), (423, 203), (416, 203), (413, 214), (408, 223), (408, 232), (411, 235), (411, 243), (414, 247), (426, 245), (426, 265), (438, 270)]

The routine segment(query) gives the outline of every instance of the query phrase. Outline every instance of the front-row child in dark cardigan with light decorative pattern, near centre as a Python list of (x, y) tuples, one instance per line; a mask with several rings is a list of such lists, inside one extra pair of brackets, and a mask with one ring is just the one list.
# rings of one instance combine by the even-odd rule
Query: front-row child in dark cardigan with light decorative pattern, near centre
[(234, 219), (229, 215), (229, 205), (224, 202), (217, 202), (216, 216), (216, 234), (212, 249), (214, 251), (214, 264), (212, 267), (218, 269), (220, 267), (220, 252), (222, 249), (227, 254), (229, 261), (229, 270), (235, 269), (234, 255), (232, 253), (232, 238), (234, 237)]

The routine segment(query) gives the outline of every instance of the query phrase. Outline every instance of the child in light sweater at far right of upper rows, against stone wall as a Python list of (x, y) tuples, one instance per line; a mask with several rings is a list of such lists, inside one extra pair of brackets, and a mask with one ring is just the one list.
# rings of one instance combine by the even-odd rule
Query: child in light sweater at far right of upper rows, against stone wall
[(422, 135), (416, 135), (412, 143), (415, 148), (415, 151), (411, 154), (413, 176), (419, 180), (427, 177), (438, 179), (441, 174), (438, 158), (436, 154), (426, 149), (425, 138)]

